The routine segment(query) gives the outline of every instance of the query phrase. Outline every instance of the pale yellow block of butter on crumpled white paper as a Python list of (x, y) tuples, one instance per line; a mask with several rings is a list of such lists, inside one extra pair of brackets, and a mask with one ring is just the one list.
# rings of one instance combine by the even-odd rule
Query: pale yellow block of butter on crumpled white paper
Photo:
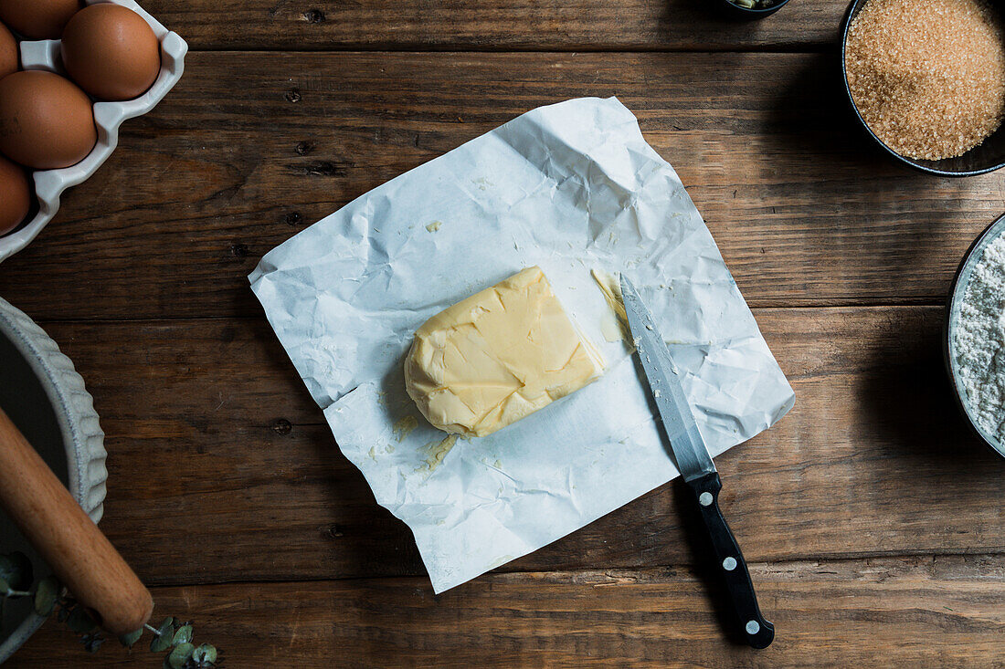
[(529, 267), (415, 332), (405, 387), (435, 427), (484, 437), (600, 378), (604, 361)]

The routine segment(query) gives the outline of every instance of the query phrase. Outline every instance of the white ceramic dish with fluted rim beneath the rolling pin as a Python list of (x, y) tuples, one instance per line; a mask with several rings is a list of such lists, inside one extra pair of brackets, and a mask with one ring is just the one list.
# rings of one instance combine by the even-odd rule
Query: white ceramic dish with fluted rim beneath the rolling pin
[[(105, 502), (105, 433), (83, 379), (59, 347), (23, 312), (0, 298), (0, 406), (97, 522)], [(0, 552), (20, 550), (35, 583), (50, 574), (0, 511)], [(0, 663), (43, 623), (28, 598), (8, 602), (0, 621)]]

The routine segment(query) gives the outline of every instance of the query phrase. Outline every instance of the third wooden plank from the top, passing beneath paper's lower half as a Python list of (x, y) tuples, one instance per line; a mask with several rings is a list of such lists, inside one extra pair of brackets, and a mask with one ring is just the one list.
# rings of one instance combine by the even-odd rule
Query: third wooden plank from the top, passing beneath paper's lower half
[[(796, 390), (719, 459), (752, 561), (1005, 551), (1001, 461), (951, 406), (934, 307), (760, 309)], [(108, 434), (102, 526), (149, 583), (422, 575), (259, 321), (58, 322)], [(504, 568), (687, 564), (664, 486)], [(198, 546), (179, 549), (179, 545)]]

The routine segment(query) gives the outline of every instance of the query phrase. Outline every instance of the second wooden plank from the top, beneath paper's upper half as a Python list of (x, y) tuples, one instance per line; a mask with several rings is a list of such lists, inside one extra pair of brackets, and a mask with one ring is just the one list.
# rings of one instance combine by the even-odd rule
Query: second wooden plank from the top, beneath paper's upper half
[(1005, 173), (885, 162), (850, 125), (835, 67), (812, 54), (195, 53), (3, 264), (0, 295), (46, 319), (258, 315), (246, 274), (307, 224), (529, 108), (617, 94), (752, 304), (941, 302), (1005, 207)]

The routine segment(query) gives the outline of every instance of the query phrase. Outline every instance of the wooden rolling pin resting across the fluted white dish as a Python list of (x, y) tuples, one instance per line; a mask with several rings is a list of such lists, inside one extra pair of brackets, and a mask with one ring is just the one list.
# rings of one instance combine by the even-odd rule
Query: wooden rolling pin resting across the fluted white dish
[(150, 620), (150, 592), (2, 409), (0, 505), (102, 628), (118, 636)]

